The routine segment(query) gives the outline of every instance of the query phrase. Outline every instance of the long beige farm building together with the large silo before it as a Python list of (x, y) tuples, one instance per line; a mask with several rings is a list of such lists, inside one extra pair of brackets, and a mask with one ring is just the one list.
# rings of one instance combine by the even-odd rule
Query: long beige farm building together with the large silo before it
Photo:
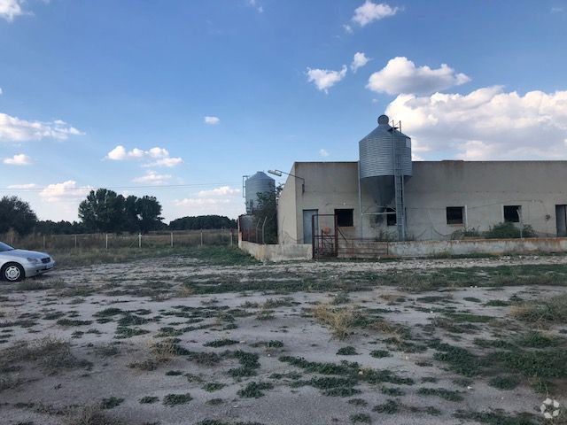
[(501, 222), (567, 236), (567, 161), (411, 161), (408, 136), (378, 123), (358, 162), (293, 164), (279, 243), (447, 240)]

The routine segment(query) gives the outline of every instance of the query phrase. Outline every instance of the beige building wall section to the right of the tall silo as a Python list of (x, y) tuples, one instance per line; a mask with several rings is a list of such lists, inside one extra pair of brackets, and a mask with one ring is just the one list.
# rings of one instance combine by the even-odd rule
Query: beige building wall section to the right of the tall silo
[[(556, 236), (555, 205), (567, 204), (567, 161), (421, 161), (406, 184), (408, 234), (446, 239), (454, 230), (485, 231), (521, 205), (524, 224)], [(447, 225), (447, 206), (464, 206), (466, 222)]]

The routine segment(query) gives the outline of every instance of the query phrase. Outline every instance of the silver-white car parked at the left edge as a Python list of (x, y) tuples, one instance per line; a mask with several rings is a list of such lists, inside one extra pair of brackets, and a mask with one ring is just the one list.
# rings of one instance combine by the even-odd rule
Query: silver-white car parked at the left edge
[(37, 251), (16, 250), (0, 242), (0, 279), (19, 282), (25, 277), (49, 272), (55, 261), (49, 254)]

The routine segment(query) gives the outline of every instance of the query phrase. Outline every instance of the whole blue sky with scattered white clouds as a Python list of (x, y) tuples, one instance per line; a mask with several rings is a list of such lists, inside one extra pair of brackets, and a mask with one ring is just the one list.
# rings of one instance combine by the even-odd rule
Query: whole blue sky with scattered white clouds
[(0, 0), (0, 196), (236, 218), (383, 113), (415, 160), (567, 159), (566, 75), (567, 0)]

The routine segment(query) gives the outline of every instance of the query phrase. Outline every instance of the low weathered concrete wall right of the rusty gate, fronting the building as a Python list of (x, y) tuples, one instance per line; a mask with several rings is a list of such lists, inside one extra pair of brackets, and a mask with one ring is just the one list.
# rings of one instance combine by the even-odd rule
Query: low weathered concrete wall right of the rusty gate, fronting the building
[(435, 255), (522, 254), (567, 252), (567, 238), (478, 239), (462, 241), (420, 241), (388, 243), (392, 257), (429, 257)]

